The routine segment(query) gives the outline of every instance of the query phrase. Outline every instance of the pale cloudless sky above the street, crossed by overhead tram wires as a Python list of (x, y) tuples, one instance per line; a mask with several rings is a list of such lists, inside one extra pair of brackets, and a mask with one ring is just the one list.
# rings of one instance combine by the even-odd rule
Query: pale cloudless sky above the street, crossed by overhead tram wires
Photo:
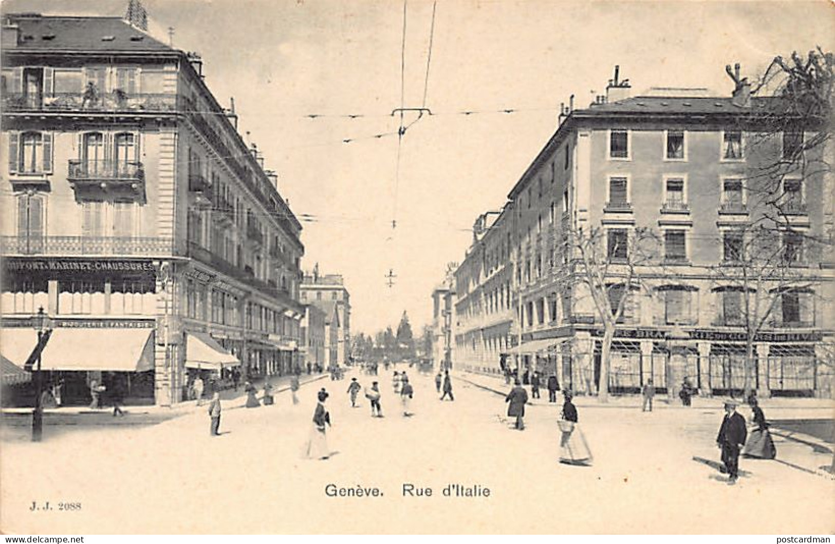
[[(6, 0), (3, 11), (123, 15), (127, 3)], [(278, 172), (291, 209), (316, 217), (303, 223), (302, 267), (342, 274), (352, 333), (396, 329), (403, 310), (416, 335), (431, 323), (433, 288), (463, 260), (473, 221), (504, 205), (556, 130), (559, 104), (574, 94), (588, 106), (615, 64), (634, 94), (730, 95), (726, 64), (754, 79), (775, 55), (831, 51), (835, 37), (825, 0), (439, 0), (427, 77), (432, 0), (407, 0), (405, 40), (401, 0), (143, 5), (152, 33), (167, 42), (174, 28), (175, 48), (200, 53), (220, 104), (235, 98), (241, 133)], [(403, 135), (398, 168), (400, 107), (433, 114)]]

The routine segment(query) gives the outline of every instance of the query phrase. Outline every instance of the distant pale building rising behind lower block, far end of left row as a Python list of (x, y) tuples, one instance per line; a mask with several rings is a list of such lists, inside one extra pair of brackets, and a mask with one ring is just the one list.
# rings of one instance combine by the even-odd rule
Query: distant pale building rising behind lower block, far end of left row
[[(334, 339), (329, 341), (328, 346), (329, 349), (335, 350), (335, 356), (328, 358), (328, 365), (344, 365), (351, 356), (351, 295), (342, 276), (320, 276), (316, 265), (312, 273), (305, 274), (302, 278), (300, 292), (301, 302), (321, 308), (326, 313), (328, 326), (334, 329)], [(335, 317), (331, 316), (331, 306), (335, 309)], [(326, 332), (326, 336), (330, 335), (330, 332)]]

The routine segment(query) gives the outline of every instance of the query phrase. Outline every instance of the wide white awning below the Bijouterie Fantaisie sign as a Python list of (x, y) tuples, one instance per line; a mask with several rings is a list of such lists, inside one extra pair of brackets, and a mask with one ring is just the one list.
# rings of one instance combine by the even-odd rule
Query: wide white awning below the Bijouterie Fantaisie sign
[(41, 369), (151, 370), (153, 333), (153, 328), (55, 328), (41, 353)]

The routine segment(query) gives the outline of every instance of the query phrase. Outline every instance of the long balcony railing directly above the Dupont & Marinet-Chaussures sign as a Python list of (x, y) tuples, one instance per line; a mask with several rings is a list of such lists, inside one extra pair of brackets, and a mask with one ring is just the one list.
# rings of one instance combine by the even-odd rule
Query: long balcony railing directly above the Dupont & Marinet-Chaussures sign
[(0, 236), (3, 255), (83, 257), (171, 255), (171, 238), (115, 236)]

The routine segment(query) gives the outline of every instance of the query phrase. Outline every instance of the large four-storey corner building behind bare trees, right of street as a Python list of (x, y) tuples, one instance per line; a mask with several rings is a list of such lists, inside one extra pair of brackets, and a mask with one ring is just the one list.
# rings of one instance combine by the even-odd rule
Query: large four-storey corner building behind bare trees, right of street
[[(736, 393), (750, 338), (761, 394), (828, 394), (832, 265), (813, 246), (832, 227), (832, 180), (815, 167), (823, 145), (804, 149), (820, 127), (776, 119), (774, 99), (746, 91), (630, 97), (629, 84), (615, 79), (589, 108), (564, 110), (456, 273), (462, 366), (495, 371), (508, 353), (520, 369), (595, 391), (604, 329), (578, 243), (600, 236), (598, 262), (609, 266), (599, 270), (602, 287), (612, 302), (630, 293), (611, 345), (610, 390), (638, 391), (652, 378), (677, 391), (686, 376), (704, 394)], [(741, 265), (763, 262), (742, 257), (760, 225), (779, 254), (771, 272), (741, 285)], [(652, 246), (635, 260), (630, 252), (645, 235)], [(742, 326), (749, 298), (764, 317), (755, 329)], [(493, 320), (511, 319), (516, 347), (514, 334), (488, 334)]]

